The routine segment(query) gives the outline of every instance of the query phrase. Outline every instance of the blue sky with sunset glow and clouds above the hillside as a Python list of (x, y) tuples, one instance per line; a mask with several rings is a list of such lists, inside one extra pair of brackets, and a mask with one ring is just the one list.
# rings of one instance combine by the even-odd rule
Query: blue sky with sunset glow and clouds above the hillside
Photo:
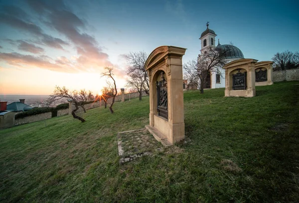
[(162, 45), (200, 53), (201, 33), (245, 58), (299, 51), (298, 0), (0, 0), (0, 95), (49, 95), (55, 86), (101, 91), (105, 67), (126, 84), (126, 54)]

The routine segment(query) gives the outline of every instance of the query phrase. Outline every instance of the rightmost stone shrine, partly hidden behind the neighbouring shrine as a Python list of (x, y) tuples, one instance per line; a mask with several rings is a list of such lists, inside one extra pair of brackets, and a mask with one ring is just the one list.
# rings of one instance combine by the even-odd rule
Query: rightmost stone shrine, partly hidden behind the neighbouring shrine
[(255, 64), (256, 86), (273, 85), (273, 61), (261, 61)]

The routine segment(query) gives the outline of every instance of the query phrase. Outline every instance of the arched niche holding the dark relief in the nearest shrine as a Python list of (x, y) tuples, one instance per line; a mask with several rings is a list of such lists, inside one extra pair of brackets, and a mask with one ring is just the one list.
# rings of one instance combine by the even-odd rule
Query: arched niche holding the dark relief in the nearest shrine
[(154, 114), (168, 119), (167, 75), (157, 70), (152, 77)]

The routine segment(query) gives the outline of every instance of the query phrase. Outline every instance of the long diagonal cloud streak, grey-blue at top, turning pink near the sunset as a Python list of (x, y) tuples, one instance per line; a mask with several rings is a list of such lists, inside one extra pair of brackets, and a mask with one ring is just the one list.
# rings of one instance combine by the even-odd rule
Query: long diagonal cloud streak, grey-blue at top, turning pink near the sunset
[(80, 65), (112, 66), (108, 54), (104, 53), (97, 40), (80, 30), (86, 30), (87, 25), (75, 13), (67, 9), (63, 1), (59, 4), (49, 4), (44, 0), (27, 0), (29, 5), (47, 18), (47, 24), (65, 35), (76, 47)]

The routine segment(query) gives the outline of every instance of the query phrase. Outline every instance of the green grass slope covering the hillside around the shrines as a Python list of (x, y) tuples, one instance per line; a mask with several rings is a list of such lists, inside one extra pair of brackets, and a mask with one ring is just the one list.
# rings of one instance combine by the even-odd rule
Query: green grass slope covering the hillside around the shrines
[(117, 132), (149, 123), (149, 97), (1, 130), (0, 202), (298, 202), (299, 82), (256, 90), (185, 92), (187, 142), (124, 165)]

